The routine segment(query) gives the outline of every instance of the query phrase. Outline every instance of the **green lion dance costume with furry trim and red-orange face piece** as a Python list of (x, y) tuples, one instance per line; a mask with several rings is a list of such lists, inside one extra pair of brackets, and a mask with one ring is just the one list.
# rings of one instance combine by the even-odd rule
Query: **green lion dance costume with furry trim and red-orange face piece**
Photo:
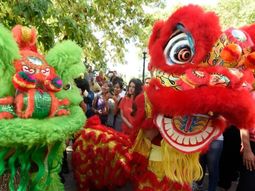
[(64, 190), (65, 140), (85, 122), (74, 83), (82, 49), (65, 41), (45, 58), (34, 28), (0, 26), (0, 55), (0, 190)]

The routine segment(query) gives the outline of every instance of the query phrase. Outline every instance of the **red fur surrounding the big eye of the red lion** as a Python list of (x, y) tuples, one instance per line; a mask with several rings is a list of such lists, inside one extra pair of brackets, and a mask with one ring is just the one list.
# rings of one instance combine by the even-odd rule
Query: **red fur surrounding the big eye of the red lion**
[[(196, 18), (196, 22), (193, 22), (191, 18)], [(161, 26), (160, 37), (157, 38), (156, 42), (153, 40), (155, 35), (152, 35), (152, 40), (150, 40), (149, 44), (152, 67), (160, 68), (163, 71), (170, 71), (173, 68), (175, 73), (182, 68), (182, 66), (167, 65), (163, 54), (164, 46), (179, 23), (194, 38), (195, 55), (192, 59), (194, 64), (198, 64), (204, 59), (222, 33), (215, 13), (206, 13), (202, 8), (195, 5), (182, 7), (173, 13), (165, 24)]]

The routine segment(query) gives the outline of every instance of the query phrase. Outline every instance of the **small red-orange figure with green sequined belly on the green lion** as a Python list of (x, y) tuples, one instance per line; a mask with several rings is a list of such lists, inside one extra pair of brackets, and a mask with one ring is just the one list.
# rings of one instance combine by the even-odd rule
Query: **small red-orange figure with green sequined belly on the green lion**
[[(62, 88), (62, 80), (44, 56), (37, 52), (35, 28), (17, 25), (12, 33), (21, 55), (13, 63), (16, 72), (12, 83), (16, 88), (16, 96), (1, 98), (1, 105), (15, 105), (15, 114), (20, 118), (67, 115), (69, 112), (61, 107), (68, 105), (69, 101), (55, 97), (55, 92)], [(13, 112), (0, 113), (0, 119), (13, 117)]]

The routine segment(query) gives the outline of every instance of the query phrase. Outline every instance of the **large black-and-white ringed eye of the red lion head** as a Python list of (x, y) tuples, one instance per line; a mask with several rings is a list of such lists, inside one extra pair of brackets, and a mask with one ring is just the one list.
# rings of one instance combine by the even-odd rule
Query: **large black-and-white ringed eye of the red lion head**
[(193, 48), (189, 34), (182, 31), (175, 32), (164, 49), (167, 64), (185, 64), (191, 61), (194, 55)]

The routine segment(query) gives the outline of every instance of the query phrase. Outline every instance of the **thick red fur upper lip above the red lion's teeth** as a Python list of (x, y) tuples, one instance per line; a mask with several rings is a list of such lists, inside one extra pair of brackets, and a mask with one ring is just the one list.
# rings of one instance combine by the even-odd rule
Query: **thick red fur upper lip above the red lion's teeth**
[[(148, 97), (156, 113), (168, 115), (220, 114), (239, 128), (251, 128), (255, 124), (255, 105), (251, 94), (243, 89), (225, 87), (201, 87), (176, 91), (163, 87), (153, 79), (147, 89)], [(162, 103), (162, 100), (169, 100)]]

